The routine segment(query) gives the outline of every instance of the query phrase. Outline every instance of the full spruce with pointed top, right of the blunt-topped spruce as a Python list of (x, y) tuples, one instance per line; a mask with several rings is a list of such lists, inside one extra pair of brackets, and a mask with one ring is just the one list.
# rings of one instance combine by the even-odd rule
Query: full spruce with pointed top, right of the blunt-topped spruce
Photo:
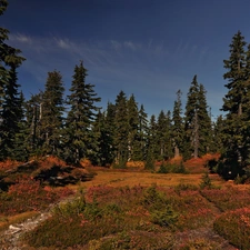
[(66, 160), (79, 164), (82, 158), (91, 158), (97, 149), (97, 138), (92, 131), (93, 121), (100, 101), (94, 92), (93, 84), (86, 83), (87, 69), (81, 61), (74, 67), (74, 74), (68, 96), (70, 110), (66, 121), (63, 143)]

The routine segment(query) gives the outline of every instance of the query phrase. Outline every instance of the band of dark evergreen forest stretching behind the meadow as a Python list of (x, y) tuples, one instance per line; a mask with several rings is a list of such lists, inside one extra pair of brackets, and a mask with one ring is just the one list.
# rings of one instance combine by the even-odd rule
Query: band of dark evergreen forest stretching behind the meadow
[[(7, 7), (0, 0), (0, 14)], [(114, 103), (101, 108), (83, 60), (72, 67), (69, 96), (63, 72), (54, 70), (48, 72), (43, 91), (26, 99), (18, 80), (26, 59), (8, 44), (8, 34), (0, 28), (0, 161), (56, 156), (72, 166), (88, 159), (94, 166), (120, 169), (141, 161), (150, 170), (156, 161), (220, 153), (213, 171), (227, 179), (250, 177), (250, 43), (240, 31), (229, 41), (228, 59), (221, 59), (228, 92), (221, 97), (224, 114), (216, 120), (206, 87), (196, 74), (187, 103), (178, 90), (173, 109), (167, 112), (149, 117), (143, 104), (124, 90)]]

